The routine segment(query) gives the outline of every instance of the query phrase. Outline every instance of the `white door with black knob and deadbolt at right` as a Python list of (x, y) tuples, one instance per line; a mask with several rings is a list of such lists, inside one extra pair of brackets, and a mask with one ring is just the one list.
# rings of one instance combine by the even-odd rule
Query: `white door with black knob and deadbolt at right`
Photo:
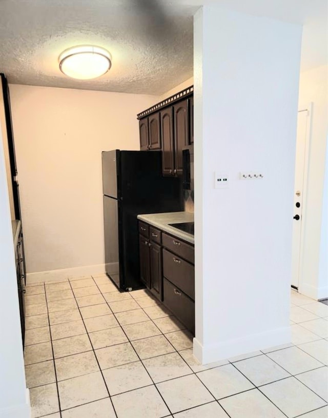
[(297, 118), (296, 165), (293, 211), (292, 286), (298, 288), (302, 236), (303, 186), (309, 111), (301, 110)]

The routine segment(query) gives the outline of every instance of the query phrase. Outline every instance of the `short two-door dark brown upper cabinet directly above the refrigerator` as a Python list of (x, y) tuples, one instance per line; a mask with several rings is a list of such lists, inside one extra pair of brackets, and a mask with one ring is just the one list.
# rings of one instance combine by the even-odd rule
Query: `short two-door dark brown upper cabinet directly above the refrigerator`
[(140, 150), (160, 150), (160, 115), (153, 113), (139, 120)]

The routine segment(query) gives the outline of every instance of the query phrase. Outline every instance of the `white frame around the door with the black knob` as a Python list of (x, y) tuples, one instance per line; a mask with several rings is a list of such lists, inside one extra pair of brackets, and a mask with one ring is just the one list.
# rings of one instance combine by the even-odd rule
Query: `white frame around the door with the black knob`
[[(312, 117), (313, 117), (313, 102), (306, 106), (299, 106), (298, 112), (308, 111), (308, 124), (306, 124), (305, 136), (305, 155), (304, 155), (304, 175), (303, 175), (303, 200), (302, 200), (302, 227), (300, 237), (300, 254), (299, 254), (299, 273), (298, 273), (298, 292), (303, 290), (303, 255), (304, 255), (304, 225), (306, 219), (306, 208), (308, 206), (308, 179), (309, 179), (309, 158), (310, 158), (310, 144), (312, 134)], [(296, 167), (295, 167), (296, 169)], [(295, 190), (294, 190), (295, 193)]]

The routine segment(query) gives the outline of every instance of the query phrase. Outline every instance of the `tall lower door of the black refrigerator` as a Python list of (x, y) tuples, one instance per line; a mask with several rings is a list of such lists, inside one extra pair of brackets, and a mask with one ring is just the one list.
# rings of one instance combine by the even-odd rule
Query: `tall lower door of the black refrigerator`
[(120, 287), (118, 203), (104, 196), (105, 265), (106, 273)]

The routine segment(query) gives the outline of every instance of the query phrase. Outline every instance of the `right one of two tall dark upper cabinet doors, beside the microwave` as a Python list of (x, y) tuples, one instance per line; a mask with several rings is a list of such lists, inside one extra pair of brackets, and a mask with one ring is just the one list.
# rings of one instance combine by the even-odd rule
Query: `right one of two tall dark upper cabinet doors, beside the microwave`
[(189, 145), (188, 99), (174, 106), (174, 173), (182, 175), (182, 150)]

